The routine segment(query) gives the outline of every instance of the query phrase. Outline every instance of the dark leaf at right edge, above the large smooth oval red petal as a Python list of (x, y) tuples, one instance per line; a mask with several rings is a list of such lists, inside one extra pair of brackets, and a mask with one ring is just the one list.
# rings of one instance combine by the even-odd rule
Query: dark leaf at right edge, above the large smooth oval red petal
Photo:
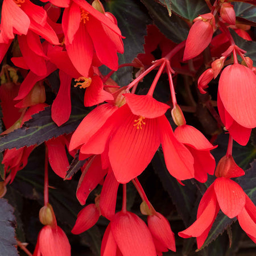
[(255, 61), (256, 61), (256, 42), (247, 41), (245, 39), (242, 39), (233, 30), (230, 30), (230, 32), (231, 32), (231, 35), (232, 35), (235, 43), (237, 44), (237, 46), (240, 47), (241, 49), (245, 50), (246, 51), (245, 55), (247, 57), (250, 57), (253, 60), (253, 62), (255, 63)]

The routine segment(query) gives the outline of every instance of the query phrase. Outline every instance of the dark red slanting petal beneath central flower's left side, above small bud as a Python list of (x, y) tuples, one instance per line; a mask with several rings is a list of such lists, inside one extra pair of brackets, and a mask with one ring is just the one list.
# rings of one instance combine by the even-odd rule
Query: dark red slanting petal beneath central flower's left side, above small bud
[(96, 186), (106, 175), (106, 172), (107, 170), (102, 170), (100, 155), (92, 158), (90, 162), (86, 165), (86, 168), (82, 172), (76, 190), (76, 197), (81, 205), (84, 205), (86, 203), (90, 192), (92, 192), (93, 189), (96, 188)]

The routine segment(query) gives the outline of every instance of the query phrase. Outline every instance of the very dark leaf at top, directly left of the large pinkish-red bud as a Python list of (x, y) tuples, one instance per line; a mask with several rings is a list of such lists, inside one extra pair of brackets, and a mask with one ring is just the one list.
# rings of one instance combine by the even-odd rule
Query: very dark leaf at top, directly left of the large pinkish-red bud
[(187, 38), (188, 24), (177, 15), (168, 15), (166, 9), (154, 0), (141, 0), (147, 7), (148, 13), (154, 20), (159, 30), (175, 43), (180, 43)]

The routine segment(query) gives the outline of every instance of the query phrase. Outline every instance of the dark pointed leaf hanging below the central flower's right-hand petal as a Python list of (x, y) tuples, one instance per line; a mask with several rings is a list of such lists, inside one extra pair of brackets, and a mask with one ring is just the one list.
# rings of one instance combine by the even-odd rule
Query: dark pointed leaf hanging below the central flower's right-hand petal
[(189, 224), (191, 212), (196, 200), (196, 188), (180, 185), (177, 180), (170, 175), (166, 168), (163, 158), (163, 152), (157, 151), (152, 159), (152, 165), (156, 174), (163, 184), (163, 188), (170, 195), (172, 202), (176, 205), (177, 212), (180, 214), (185, 225)]

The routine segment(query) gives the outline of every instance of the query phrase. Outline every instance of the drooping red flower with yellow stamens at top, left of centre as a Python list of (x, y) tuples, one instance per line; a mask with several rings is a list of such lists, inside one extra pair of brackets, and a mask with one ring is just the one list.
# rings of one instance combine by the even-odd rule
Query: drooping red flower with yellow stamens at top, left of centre
[(88, 77), (95, 57), (117, 70), (117, 52), (123, 52), (121, 32), (114, 16), (103, 8), (101, 11), (86, 1), (74, 0), (63, 13), (65, 46), (73, 65), (84, 77)]

